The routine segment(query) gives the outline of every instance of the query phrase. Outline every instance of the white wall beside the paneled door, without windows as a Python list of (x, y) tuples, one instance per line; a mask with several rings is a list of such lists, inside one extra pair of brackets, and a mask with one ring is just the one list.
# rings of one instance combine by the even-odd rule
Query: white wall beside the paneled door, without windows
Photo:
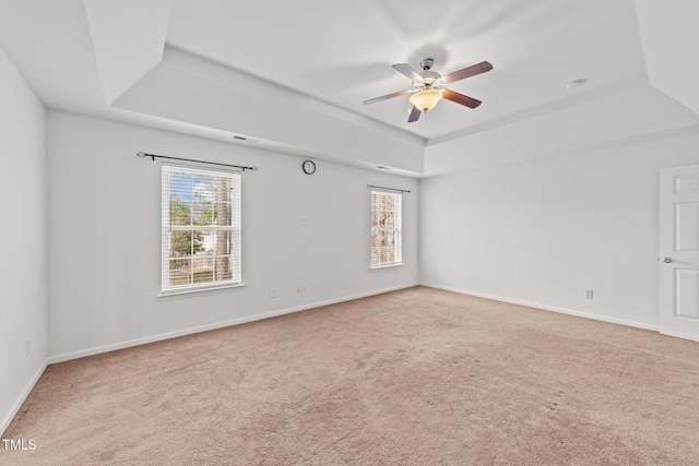
[(655, 328), (659, 170), (698, 147), (694, 127), (422, 180), (420, 282)]

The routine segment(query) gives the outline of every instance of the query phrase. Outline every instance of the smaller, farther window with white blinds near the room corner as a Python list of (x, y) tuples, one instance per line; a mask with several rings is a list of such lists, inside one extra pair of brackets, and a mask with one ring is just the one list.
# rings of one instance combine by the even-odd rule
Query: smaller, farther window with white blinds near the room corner
[(371, 267), (399, 265), (402, 194), (371, 191)]

